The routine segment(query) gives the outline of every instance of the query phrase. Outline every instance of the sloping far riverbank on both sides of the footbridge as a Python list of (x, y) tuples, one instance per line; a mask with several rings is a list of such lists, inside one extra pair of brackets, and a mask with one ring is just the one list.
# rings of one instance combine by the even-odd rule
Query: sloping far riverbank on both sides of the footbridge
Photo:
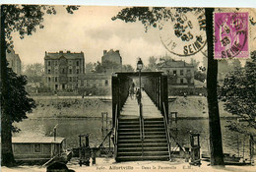
[[(29, 118), (98, 118), (101, 112), (112, 114), (110, 97), (88, 96), (36, 96), (37, 107)], [(107, 101), (106, 101), (107, 100)], [(233, 117), (224, 110), (224, 103), (219, 102), (221, 117)], [(178, 118), (208, 118), (207, 99), (204, 96), (177, 96), (169, 102), (169, 112), (178, 112)]]

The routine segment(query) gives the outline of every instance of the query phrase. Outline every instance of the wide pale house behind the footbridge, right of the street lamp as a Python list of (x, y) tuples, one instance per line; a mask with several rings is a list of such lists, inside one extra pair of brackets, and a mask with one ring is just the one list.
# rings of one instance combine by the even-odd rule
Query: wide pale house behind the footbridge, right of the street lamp
[(194, 86), (194, 66), (184, 61), (166, 60), (159, 70), (168, 75), (168, 85), (171, 87)]

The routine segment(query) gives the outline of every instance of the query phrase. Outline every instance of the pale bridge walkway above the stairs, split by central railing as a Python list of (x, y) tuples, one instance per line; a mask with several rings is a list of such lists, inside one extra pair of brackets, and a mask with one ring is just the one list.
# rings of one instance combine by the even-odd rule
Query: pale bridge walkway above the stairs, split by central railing
[[(162, 118), (160, 110), (144, 90), (142, 90), (142, 104), (144, 118)], [(133, 99), (128, 97), (120, 112), (120, 118), (139, 118), (139, 116), (139, 105), (135, 95)]]

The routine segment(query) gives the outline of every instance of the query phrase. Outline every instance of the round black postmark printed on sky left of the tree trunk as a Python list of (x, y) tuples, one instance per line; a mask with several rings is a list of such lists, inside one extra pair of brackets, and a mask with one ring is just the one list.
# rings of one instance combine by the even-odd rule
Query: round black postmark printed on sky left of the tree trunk
[(163, 46), (178, 56), (191, 56), (206, 44), (206, 19), (203, 9), (178, 13), (162, 24), (160, 40)]

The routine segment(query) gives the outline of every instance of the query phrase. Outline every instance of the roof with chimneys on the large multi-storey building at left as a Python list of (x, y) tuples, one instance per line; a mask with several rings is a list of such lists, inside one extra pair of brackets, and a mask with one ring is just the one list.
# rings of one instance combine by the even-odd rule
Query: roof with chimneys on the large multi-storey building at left
[(60, 52), (45, 52), (44, 59), (45, 60), (58, 60), (60, 57), (64, 57), (68, 60), (76, 60), (76, 59), (82, 59), (84, 58), (84, 52), (80, 53), (71, 53), (70, 51), (67, 51), (64, 53), (63, 51)]

